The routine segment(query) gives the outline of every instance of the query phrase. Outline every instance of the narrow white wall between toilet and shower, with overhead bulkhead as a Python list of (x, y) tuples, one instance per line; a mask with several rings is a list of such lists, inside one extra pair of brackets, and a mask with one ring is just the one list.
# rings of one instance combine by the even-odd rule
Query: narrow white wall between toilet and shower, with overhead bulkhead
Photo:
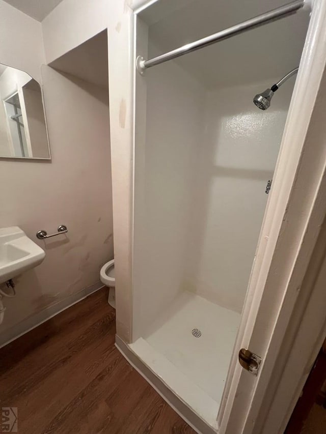
[[(42, 22), (47, 62), (108, 30), (117, 334), (131, 339), (133, 1), (63, 0)], [(128, 49), (127, 49), (128, 47)]]

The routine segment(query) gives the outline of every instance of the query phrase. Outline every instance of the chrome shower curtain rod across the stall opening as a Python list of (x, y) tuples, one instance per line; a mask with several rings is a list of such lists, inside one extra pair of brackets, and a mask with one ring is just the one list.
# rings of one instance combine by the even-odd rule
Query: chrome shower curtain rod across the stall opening
[(199, 50), (200, 48), (207, 47), (208, 45), (215, 44), (215, 42), (231, 38), (232, 36), (246, 32), (251, 28), (258, 27), (268, 22), (275, 21), (287, 15), (293, 14), (298, 9), (301, 9), (304, 6), (304, 3), (304, 0), (295, 0), (295, 2), (288, 3), (287, 5), (273, 9), (269, 12), (265, 12), (264, 14), (250, 18), (249, 20), (240, 22), (239, 24), (233, 25), (232, 27), (226, 28), (225, 30), (221, 30), (218, 33), (214, 33), (213, 35), (206, 36), (205, 38), (199, 39), (198, 41), (191, 42), (167, 53), (160, 54), (159, 56), (153, 57), (153, 59), (144, 60), (143, 57), (138, 56), (136, 61), (137, 69), (141, 74), (143, 74), (147, 68), (151, 68), (152, 66), (175, 59), (176, 57), (182, 56), (183, 54)]

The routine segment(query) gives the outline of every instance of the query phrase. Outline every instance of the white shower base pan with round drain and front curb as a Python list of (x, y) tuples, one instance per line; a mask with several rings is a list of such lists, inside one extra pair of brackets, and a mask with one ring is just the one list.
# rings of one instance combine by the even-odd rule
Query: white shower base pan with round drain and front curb
[(118, 349), (198, 432), (216, 430), (240, 314), (184, 292), (146, 335)]

